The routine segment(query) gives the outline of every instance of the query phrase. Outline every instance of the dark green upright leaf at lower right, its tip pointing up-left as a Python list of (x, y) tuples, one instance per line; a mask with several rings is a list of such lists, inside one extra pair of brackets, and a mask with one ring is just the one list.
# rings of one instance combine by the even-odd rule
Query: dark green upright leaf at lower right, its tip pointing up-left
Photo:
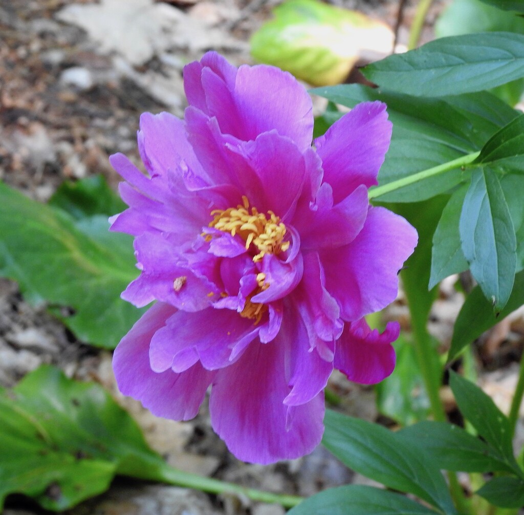
[(508, 417), (476, 384), (450, 371), (450, 386), (459, 410), (478, 434), (491, 444), (506, 462), (519, 470), (513, 455)]

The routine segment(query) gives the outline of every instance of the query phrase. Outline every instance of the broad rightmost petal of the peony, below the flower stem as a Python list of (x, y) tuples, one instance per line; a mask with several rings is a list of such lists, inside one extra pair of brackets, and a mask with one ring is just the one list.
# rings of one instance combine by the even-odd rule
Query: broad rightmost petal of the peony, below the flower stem
[(345, 320), (355, 321), (393, 302), (398, 271), (417, 244), (417, 231), (402, 217), (370, 207), (364, 228), (336, 252), (322, 251), (326, 288)]

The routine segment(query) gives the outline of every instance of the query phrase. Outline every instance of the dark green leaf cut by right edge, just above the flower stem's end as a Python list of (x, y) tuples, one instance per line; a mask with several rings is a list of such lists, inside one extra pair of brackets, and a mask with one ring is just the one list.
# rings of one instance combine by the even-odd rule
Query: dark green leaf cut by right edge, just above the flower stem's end
[(524, 171), (524, 114), (501, 128), (482, 148), (474, 164)]

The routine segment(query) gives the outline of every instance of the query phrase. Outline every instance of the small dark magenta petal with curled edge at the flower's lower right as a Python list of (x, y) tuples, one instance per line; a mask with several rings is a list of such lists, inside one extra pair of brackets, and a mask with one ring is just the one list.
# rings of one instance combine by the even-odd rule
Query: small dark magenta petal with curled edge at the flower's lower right
[(375, 384), (387, 378), (395, 368), (395, 349), (391, 342), (400, 334), (397, 322), (388, 322), (383, 333), (373, 331), (365, 318), (346, 324), (336, 342), (335, 368), (347, 379), (362, 384)]

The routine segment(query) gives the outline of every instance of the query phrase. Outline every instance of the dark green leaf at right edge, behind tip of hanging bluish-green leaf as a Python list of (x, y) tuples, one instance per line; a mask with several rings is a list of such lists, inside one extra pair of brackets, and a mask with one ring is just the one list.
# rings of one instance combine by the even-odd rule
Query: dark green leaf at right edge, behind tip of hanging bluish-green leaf
[(493, 305), (486, 299), (479, 286), (475, 286), (467, 296), (453, 328), (448, 362), (453, 361), (462, 349), (493, 327), (498, 321), (524, 304), (524, 272), (515, 276), (513, 291), (506, 307), (499, 316), (493, 313)]

